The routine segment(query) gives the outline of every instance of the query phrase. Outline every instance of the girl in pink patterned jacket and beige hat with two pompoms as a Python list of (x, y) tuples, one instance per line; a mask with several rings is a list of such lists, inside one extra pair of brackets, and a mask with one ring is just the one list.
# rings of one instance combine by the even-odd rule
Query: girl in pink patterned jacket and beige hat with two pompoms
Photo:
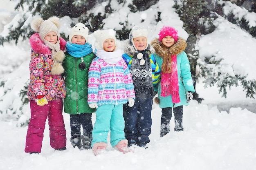
[(57, 17), (48, 20), (37, 18), (31, 23), (34, 33), (29, 38), (31, 60), (29, 63), (30, 83), (28, 99), (31, 119), (29, 122), (25, 152), (40, 153), (45, 121), (48, 117), (50, 145), (55, 150), (66, 149), (66, 130), (63, 121), (65, 82), (62, 62), (65, 57), (66, 42), (60, 37)]

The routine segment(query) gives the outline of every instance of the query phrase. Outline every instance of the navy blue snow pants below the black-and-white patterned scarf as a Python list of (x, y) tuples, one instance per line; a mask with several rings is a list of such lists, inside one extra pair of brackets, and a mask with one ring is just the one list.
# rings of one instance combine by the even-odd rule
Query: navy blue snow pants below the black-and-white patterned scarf
[(128, 146), (132, 144), (144, 147), (150, 142), (151, 133), (151, 109), (153, 101), (150, 97), (139, 98), (136, 96), (135, 104), (129, 107), (124, 104), (125, 137)]

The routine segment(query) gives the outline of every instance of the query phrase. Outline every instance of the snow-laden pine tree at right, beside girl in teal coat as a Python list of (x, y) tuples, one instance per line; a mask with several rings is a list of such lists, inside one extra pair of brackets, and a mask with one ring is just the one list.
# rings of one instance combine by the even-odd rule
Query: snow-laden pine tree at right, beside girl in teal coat
[[(233, 23), (236, 23), (243, 29), (247, 28), (246, 30), (252, 36), (255, 36), (256, 20), (251, 24), (249, 21), (251, 21), (252, 15), (255, 15), (254, 18), (256, 18), (256, 14), (249, 13), (246, 9), (242, 9), (236, 4), (222, 0), (216, 0), (214, 4), (212, 4), (211, 0), (175, 0), (175, 8), (184, 22), (184, 29), (189, 33), (186, 52), (189, 56), (195, 84), (198, 76), (202, 76), (206, 79), (204, 87), (217, 85), (219, 93), (222, 93), (222, 97), (227, 97), (227, 88), (241, 84), (246, 92), (246, 96), (254, 98), (256, 94), (255, 79), (247, 80), (246, 76), (230, 75), (228, 71), (223, 69), (223, 67), (225, 68), (221, 62), (223, 59), (216, 60), (215, 56), (205, 58), (202, 61), (198, 57), (199, 53), (196, 50), (196, 46), (201, 35), (207, 35), (214, 31), (213, 21), (218, 18), (218, 15), (229, 18), (230, 21), (233, 21)], [(238, 17), (241, 14), (239, 12), (244, 13), (242, 18)], [(230, 18), (230, 16), (234, 17)], [(200, 67), (200, 74), (196, 73), (196, 66)], [(198, 102), (202, 100), (198, 98), (197, 93), (194, 93), (194, 95)]]

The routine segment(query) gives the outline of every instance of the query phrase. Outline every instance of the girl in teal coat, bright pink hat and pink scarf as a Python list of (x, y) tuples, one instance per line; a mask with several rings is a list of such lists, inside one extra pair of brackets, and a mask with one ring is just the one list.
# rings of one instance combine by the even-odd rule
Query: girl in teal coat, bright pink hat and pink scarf
[(189, 59), (184, 50), (186, 41), (177, 35), (177, 30), (164, 26), (159, 32), (159, 39), (151, 42), (155, 49), (155, 60), (161, 70), (158, 84), (159, 107), (162, 108), (160, 136), (170, 132), (172, 108), (175, 119), (175, 131), (183, 131), (183, 105), (188, 105), (195, 92)]

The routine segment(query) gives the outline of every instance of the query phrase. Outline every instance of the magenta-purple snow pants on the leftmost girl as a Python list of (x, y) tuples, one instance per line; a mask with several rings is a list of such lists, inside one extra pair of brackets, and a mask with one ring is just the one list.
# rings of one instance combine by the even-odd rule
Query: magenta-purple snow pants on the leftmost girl
[(35, 101), (30, 101), (31, 119), (27, 129), (25, 152), (41, 152), (47, 117), (51, 147), (61, 149), (66, 146), (62, 99), (48, 102), (47, 105), (38, 106)]

